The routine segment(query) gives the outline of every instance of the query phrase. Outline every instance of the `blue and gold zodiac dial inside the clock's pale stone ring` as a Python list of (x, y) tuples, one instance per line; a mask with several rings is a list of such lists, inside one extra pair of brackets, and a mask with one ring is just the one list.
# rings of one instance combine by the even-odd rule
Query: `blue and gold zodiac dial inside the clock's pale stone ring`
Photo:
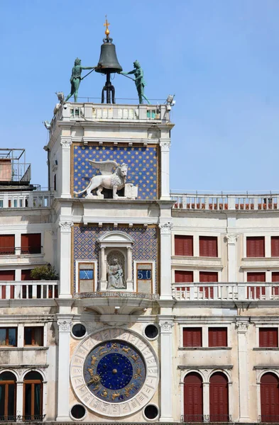
[(141, 390), (146, 366), (141, 353), (126, 341), (106, 341), (93, 348), (84, 362), (84, 380), (99, 399), (119, 403)]

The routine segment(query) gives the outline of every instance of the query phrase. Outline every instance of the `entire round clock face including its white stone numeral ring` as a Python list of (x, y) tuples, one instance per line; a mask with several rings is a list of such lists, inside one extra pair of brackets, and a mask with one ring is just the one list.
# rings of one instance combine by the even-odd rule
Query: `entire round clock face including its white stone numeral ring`
[(71, 361), (72, 387), (80, 402), (104, 416), (143, 408), (158, 385), (158, 361), (148, 341), (125, 329), (87, 336)]

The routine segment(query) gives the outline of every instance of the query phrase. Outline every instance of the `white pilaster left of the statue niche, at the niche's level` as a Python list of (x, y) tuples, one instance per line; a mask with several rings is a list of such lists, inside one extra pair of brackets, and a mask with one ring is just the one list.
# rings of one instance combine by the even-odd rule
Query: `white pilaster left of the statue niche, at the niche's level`
[(60, 222), (60, 290), (59, 297), (71, 298), (72, 222)]

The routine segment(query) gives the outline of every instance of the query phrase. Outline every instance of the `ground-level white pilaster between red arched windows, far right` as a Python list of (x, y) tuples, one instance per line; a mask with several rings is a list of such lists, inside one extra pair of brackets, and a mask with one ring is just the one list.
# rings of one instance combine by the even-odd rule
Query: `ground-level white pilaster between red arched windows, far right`
[(239, 355), (239, 422), (249, 422), (248, 392), (248, 322), (236, 322)]

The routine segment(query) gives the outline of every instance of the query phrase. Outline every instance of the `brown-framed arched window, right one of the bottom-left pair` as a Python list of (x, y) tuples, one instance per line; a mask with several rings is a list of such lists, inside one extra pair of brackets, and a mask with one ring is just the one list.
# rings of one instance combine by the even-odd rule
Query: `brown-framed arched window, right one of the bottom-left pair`
[(43, 378), (38, 372), (29, 372), (23, 380), (23, 420), (43, 419)]

